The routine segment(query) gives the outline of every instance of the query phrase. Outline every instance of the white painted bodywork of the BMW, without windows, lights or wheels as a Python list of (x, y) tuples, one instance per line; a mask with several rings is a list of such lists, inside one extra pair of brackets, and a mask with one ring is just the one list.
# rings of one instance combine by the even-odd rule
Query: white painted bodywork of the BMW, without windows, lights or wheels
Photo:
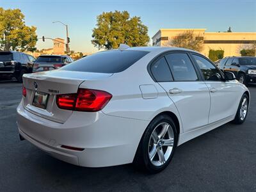
[[(65, 70), (25, 74), (27, 96), (17, 108), (20, 135), (68, 163), (88, 167), (132, 163), (143, 132), (160, 113), (176, 116), (178, 145), (181, 145), (233, 120), (243, 93), (248, 92), (237, 81), (157, 83), (148, 74), (148, 63), (165, 51), (186, 49), (135, 47), (129, 50), (150, 52), (115, 74)], [(38, 84), (37, 89), (34, 82)], [(104, 90), (113, 97), (97, 112), (58, 108), (56, 95), (76, 93), (78, 88)], [(182, 92), (171, 94), (168, 90), (172, 88)], [(210, 92), (211, 88), (216, 92)], [(36, 90), (51, 95), (46, 109), (32, 106)], [(70, 150), (61, 145), (84, 150)]]

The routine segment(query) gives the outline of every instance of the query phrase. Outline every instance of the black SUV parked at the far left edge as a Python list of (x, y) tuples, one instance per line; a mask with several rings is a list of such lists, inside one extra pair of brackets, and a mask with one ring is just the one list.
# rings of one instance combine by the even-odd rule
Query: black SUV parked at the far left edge
[(15, 77), (20, 83), (23, 74), (31, 73), (35, 58), (18, 51), (0, 51), (0, 76)]

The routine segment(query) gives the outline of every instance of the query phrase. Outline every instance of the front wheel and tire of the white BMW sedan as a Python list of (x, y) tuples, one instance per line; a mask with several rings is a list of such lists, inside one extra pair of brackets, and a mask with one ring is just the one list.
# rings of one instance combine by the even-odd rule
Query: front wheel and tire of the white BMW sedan
[(246, 95), (246, 93), (243, 94), (239, 107), (236, 112), (236, 117), (233, 120), (234, 124), (243, 124), (243, 122), (246, 120), (246, 116), (248, 114), (248, 104), (249, 104), (249, 97)]

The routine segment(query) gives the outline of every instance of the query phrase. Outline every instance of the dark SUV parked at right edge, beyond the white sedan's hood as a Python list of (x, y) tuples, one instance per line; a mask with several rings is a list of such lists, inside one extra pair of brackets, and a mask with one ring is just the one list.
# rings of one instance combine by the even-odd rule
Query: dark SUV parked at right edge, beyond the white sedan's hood
[(255, 57), (228, 57), (220, 61), (223, 72), (233, 72), (240, 83), (256, 83)]

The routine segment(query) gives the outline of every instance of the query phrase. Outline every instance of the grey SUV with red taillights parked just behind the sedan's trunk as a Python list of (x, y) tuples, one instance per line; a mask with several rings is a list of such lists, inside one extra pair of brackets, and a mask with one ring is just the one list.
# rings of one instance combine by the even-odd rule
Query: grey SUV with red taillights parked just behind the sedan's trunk
[(67, 55), (40, 55), (34, 63), (33, 72), (54, 70), (72, 62)]

